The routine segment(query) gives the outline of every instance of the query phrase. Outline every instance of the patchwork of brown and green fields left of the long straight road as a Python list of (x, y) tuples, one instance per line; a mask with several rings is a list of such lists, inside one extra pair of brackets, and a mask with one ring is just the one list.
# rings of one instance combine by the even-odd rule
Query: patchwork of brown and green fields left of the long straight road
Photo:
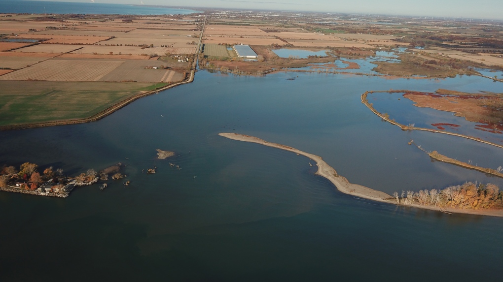
[(203, 28), (197, 18), (42, 16), (12, 14), (0, 22), (6, 129), (85, 121), (193, 77)]

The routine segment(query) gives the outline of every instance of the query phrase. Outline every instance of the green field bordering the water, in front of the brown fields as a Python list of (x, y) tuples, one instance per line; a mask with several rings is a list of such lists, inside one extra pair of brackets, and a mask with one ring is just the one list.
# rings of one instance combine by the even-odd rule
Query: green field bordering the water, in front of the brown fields
[(166, 85), (138, 82), (0, 81), (0, 126), (92, 116)]

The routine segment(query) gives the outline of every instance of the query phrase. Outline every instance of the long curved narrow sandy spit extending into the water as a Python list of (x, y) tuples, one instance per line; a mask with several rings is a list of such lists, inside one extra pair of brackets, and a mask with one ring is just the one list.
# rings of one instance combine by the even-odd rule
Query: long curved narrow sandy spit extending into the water
[(226, 132), (218, 133), (218, 135), (232, 139), (232, 140), (257, 143), (260, 145), (289, 151), (289, 152), (296, 153), (298, 155), (302, 155), (304, 157), (307, 157), (307, 158), (316, 162), (316, 166), (318, 167), (318, 171), (315, 173), (315, 175), (319, 175), (319, 176), (326, 178), (328, 181), (330, 181), (333, 185), (336, 186), (337, 190), (339, 190), (340, 192), (342, 192), (344, 194), (360, 197), (363, 199), (373, 200), (373, 201), (377, 201), (377, 202), (389, 203), (389, 204), (393, 204), (393, 205), (396, 205), (399, 207), (411, 207), (411, 208), (428, 209), (428, 210), (434, 210), (434, 211), (440, 211), (440, 212), (503, 217), (503, 210), (464, 210), (464, 209), (462, 210), (462, 209), (434, 207), (434, 206), (427, 206), (427, 205), (423, 206), (423, 205), (416, 205), (416, 204), (407, 204), (407, 205), (396, 204), (395, 198), (393, 198), (391, 195), (388, 195), (382, 191), (374, 190), (374, 189), (371, 189), (371, 188), (368, 188), (368, 187), (365, 187), (362, 185), (353, 184), (353, 183), (349, 182), (348, 179), (337, 174), (336, 170), (333, 169), (331, 166), (329, 166), (319, 156), (309, 154), (309, 153), (306, 153), (306, 152), (303, 152), (298, 149), (288, 147), (285, 145), (267, 142), (266, 140), (263, 140), (261, 138), (254, 137), (254, 136), (238, 134), (238, 133), (226, 133)]

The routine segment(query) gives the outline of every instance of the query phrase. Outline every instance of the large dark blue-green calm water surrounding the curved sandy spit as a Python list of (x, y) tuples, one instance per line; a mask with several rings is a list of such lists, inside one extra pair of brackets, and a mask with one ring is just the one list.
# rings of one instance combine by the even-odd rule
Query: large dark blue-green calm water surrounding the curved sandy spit
[[(465, 181), (503, 187), (499, 178), (432, 162), (407, 142), (493, 168), (503, 150), (401, 131), (360, 101), (367, 90), (497, 92), (502, 84), (289, 77), (199, 71), (193, 83), (97, 122), (0, 132), (2, 163), (75, 175), (123, 162), (132, 184), (79, 188), (66, 199), (0, 193), (2, 280), (499, 279), (503, 219), (356, 199), (315, 176), (305, 157), (217, 134), (322, 156), (351, 182), (387, 193)], [(157, 160), (155, 149), (177, 156)], [(142, 174), (153, 166), (157, 174)]]

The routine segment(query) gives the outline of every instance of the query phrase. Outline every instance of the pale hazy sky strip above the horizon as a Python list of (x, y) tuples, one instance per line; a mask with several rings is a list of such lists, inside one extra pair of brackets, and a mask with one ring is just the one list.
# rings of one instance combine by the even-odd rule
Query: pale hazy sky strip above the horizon
[[(93, 0), (53, 0), (93, 2)], [(503, 20), (503, 0), (94, 0), (95, 3)]]

